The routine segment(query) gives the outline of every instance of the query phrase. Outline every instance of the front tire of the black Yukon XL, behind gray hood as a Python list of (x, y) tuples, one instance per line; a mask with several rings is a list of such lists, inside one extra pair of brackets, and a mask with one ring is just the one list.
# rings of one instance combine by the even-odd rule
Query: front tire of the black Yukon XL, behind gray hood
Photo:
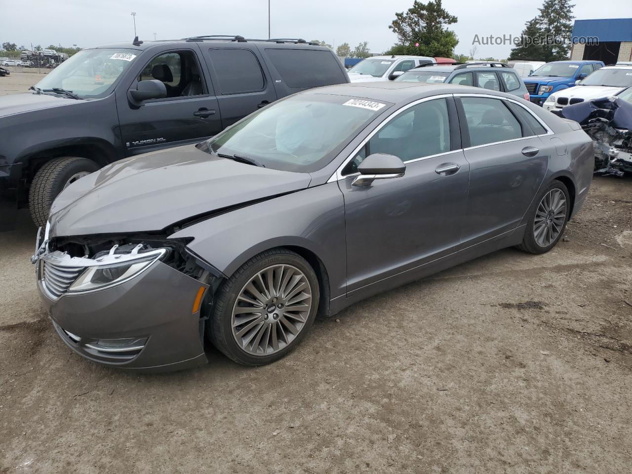
[(46, 226), (52, 202), (73, 176), (97, 169), (99, 165), (94, 161), (78, 157), (55, 158), (42, 166), (28, 191), (28, 208), (35, 225)]

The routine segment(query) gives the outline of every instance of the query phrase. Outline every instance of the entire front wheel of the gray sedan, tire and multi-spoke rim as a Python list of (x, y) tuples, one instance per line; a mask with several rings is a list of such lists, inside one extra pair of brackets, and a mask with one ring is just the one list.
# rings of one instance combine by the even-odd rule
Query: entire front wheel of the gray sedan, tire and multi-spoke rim
[(234, 362), (274, 362), (303, 340), (319, 298), (318, 279), (305, 258), (285, 248), (267, 250), (219, 289), (207, 336)]

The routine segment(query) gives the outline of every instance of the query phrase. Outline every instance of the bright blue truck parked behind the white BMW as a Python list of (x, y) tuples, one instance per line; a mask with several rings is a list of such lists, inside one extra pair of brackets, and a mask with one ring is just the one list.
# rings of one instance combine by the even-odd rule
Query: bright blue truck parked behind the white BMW
[(602, 61), (553, 61), (540, 66), (525, 78), (530, 100), (542, 106), (547, 97), (558, 90), (568, 89), (593, 71), (605, 66)]

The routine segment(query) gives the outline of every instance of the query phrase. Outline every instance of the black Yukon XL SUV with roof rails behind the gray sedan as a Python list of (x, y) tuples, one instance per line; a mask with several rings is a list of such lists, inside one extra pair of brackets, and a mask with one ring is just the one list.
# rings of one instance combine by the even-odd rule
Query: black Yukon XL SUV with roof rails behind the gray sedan
[[(65, 186), (106, 164), (200, 142), (270, 102), (349, 82), (331, 49), (302, 39), (197, 36), (83, 49), (0, 97), (0, 197), (46, 223)], [(4, 216), (5, 210), (0, 210)]]

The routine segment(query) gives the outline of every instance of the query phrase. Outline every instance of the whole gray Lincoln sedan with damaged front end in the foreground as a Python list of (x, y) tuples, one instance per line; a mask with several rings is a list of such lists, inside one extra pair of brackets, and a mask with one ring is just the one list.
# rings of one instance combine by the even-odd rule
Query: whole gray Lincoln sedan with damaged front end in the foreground
[(500, 248), (549, 251), (593, 161), (577, 123), (501, 92), (308, 90), (68, 186), (37, 285), (64, 343), (95, 362), (192, 367), (207, 339), (262, 365), (317, 314)]

